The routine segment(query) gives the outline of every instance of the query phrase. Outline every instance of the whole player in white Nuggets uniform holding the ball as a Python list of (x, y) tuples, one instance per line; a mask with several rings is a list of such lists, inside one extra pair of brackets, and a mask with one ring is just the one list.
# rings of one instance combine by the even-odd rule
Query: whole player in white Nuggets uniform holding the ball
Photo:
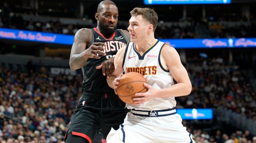
[[(136, 93), (131, 111), (118, 130), (111, 129), (107, 143), (194, 143), (190, 133), (176, 113), (174, 97), (191, 92), (188, 73), (177, 51), (155, 39), (157, 14), (149, 8), (134, 8), (131, 12), (131, 42), (115, 57), (115, 70), (107, 82), (117, 88), (123, 71), (138, 72), (147, 79), (146, 93)], [(177, 81), (174, 85), (173, 78)]]

